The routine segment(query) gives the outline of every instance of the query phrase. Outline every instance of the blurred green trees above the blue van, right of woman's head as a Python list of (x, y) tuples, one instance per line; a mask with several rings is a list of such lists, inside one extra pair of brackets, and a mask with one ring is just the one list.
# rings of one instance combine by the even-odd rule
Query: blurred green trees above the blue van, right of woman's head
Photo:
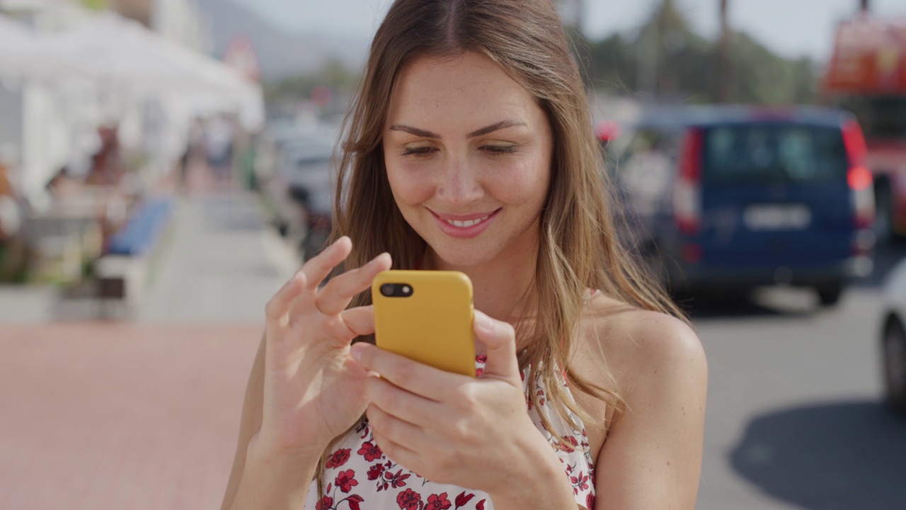
[(718, 79), (729, 80), (736, 103), (812, 103), (817, 93), (811, 61), (773, 54), (741, 32), (730, 33), (729, 75), (716, 76), (718, 43), (693, 32), (673, 0), (663, 0), (631, 37), (588, 42), (573, 34), (573, 49), (589, 85), (606, 93), (713, 103)]

